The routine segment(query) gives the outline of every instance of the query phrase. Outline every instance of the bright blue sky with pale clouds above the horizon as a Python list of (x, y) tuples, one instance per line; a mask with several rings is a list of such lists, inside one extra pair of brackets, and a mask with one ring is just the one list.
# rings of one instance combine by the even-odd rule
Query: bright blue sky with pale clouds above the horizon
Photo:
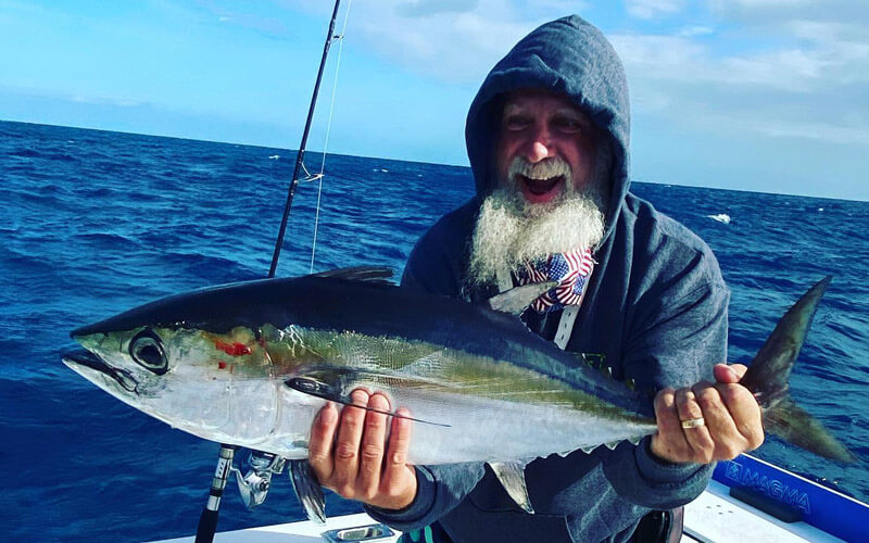
[[(331, 10), (0, 0), (0, 119), (298, 149)], [(869, 201), (865, 0), (343, 0), (308, 149), (467, 165), (488, 71), (569, 13), (625, 63), (633, 179)]]

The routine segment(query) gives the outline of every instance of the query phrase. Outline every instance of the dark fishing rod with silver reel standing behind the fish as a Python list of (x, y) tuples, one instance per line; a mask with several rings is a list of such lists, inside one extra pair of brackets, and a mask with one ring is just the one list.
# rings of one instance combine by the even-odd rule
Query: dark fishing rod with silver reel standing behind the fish
[[(311, 97), (311, 105), (307, 109), (307, 119), (305, 121), (305, 129), (302, 132), (302, 142), (299, 144), (299, 153), (295, 155), (295, 168), (293, 169), (292, 180), (287, 190), (287, 203), (284, 206), (284, 217), (280, 220), (280, 229), (278, 231), (278, 239), (275, 242), (275, 252), (272, 255), (272, 266), (268, 268), (268, 277), (275, 277), (275, 270), (278, 267), (278, 258), (280, 257), (280, 249), (284, 245), (284, 237), (287, 233), (287, 223), (290, 217), (290, 207), (292, 206), (292, 199), (295, 194), (295, 187), (299, 185), (299, 174), (304, 168), (305, 146), (307, 144), (307, 135), (311, 131), (311, 122), (314, 118), (314, 109), (317, 104), (317, 96), (319, 94), (319, 85), (323, 80), (323, 72), (326, 67), (326, 58), (329, 55), (329, 47), (332, 41), (340, 39), (343, 36), (335, 35), (335, 21), (338, 18), (338, 8), (341, 0), (335, 1), (335, 9), (332, 16), (329, 21), (329, 30), (326, 35), (326, 42), (323, 46), (323, 58), (319, 61), (319, 70), (317, 71), (317, 79), (314, 84), (314, 92)], [(325, 152), (325, 151), (324, 151)], [(196, 543), (211, 543), (214, 541), (214, 533), (217, 531), (217, 517), (219, 515), (221, 498), (223, 491), (226, 488), (226, 480), (230, 471), (240, 475), (240, 471), (232, 467), (232, 458), (236, 453), (235, 445), (221, 444), (219, 457), (217, 460), (217, 468), (212, 479), (211, 489), (209, 491), (209, 501), (205, 508), (202, 509), (202, 515), (199, 518), (197, 526)], [(257, 454), (259, 453), (259, 454)], [(267, 453), (260, 453), (257, 451), (251, 452), (250, 464), (253, 464), (253, 471), (243, 477), (239, 483), (239, 489), (242, 490), (242, 497), (249, 507), (259, 505), (265, 498), (265, 493), (268, 492), (268, 483), (270, 481), (270, 473), (280, 472), (282, 470), (282, 463), (270, 463), (270, 458), (266, 458)], [(263, 462), (265, 459), (265, 463)], [(252, 484), (253, 483), (253, 484)], [(253, 488), (252, 488), (253, 487)], [(248, 491), (247, 494), (244, 491)]]

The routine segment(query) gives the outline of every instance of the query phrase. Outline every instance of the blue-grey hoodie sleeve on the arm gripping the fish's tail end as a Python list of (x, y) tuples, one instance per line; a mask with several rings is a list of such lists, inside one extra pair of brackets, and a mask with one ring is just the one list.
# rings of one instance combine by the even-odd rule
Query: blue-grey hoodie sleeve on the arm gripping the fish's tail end
[[(729, 301), (715, 258), (701, 258), (687, 277), (646, 299), (653, 306), (639, 304), (639, 326), (622, 361), (625, 375), (643, 375), (655, 388), (711, 379), (713, 366), (727, 362)], [(669, 509), (703, 492), (714, 464), (671, 464), (657, 458), (650, 444), (647, 437), (638, 446), (617, 447), (604, 462), (604, 472), (619, 495), (652, 509)]]

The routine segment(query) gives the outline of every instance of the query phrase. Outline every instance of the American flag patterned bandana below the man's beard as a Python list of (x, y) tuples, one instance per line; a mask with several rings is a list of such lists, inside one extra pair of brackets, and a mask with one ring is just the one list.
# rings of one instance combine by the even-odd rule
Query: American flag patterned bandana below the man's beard
[(558, 281), (557, 287), (547, 290), (531, 302), (532, 310), (538, 313), (547, 313), (562, 310), (565, 305), (579, 305), (593, 268), (594, 260), (591, 257), (591, 250), (576, 249), (526, 262), (516, 272), (516, 278), (519, 286)]

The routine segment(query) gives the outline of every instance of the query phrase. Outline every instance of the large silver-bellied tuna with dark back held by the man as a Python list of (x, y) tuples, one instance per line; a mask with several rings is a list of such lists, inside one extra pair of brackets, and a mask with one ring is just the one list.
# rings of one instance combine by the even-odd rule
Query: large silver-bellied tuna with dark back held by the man
[[(380, 391), (410, 412), (389, 415), (414, 420), (411, 464), (487, 462), (529, 512), (527, 462), (656, 432), (651, 386), (615, 379), (605, 357), (563, 351), (517, 318), (549, 285), (471, 304), (398, 287), (390, 275), (347, 268), (165, 298), (73, 330), (84, 349), (63, 362), (173, 428), (288, 460), (307, 457), (311, 424), (328, 402)], [(853, 462), (788, 393), (829, 282), (784, 314), (742, 383), (768, 431)], [(301, 472), (300, 487), (316, 487)], [(310, 491), (297, 488), (303, 501)]]

